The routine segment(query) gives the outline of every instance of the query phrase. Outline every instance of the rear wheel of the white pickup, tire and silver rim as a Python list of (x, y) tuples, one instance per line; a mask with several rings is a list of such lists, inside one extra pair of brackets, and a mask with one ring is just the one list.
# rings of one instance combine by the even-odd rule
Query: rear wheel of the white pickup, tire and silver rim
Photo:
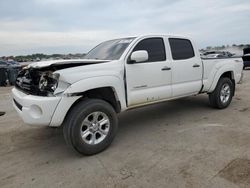
[(209, 94), (210, 105), (218, 109), (227, 108), (232, 101), (234, 89), (231, 79), (220, 78), (215, 90)]

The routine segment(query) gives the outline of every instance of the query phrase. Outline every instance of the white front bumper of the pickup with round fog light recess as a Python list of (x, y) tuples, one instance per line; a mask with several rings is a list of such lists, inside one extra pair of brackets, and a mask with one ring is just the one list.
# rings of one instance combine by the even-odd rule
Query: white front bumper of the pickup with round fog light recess
[(13, 106), (26, 124), (48, 126), (62, 97), (27, 95), (12, 89)]

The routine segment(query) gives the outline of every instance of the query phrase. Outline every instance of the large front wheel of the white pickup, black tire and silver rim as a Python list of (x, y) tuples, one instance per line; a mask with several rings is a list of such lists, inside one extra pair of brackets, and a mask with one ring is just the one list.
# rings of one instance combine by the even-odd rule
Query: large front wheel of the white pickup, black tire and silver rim
[(70, 110), (63, 125), (63, 134), (72, 149), (83, 155), (94, 155), (112, 143), (117, 128), (117, 115), (109, 103), (86, 99)]

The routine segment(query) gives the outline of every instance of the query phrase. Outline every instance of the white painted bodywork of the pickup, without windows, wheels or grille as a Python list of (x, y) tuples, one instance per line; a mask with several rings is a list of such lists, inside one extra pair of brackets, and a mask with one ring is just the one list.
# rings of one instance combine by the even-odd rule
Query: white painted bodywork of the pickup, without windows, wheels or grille
[[(167, 59), (160, 62), (127, 64), (136, 44), (150, 37), (163, 38)], [(202, 83), (204, 84), (203, 92), (212, 92), (220, 76), (227, 71), (232, 72), (236, 83), (239, 82), (243, 67), (240, 58), (202, 61), (194, 45), (195, 57), (177, 62), (171, 57), (168, 44), (169, 37), (176, 36), (150, 35), (137, 37), (127, 47), (119, 60), (56, 71), (60, 74), (60, 82), (68, 83), (67, 87), (64, 84), (64, 88), (61, 88), (60, 91), (64, 90), (64, 92), (60, 96), (38, 97), (26, 95), (17, 89), (13, 89), (13, 98), (24, 106), (23, 111), (14, 106), (22, 119), (28, 124), (60, 126), (72, 104), (79, 98), (79, 96), (69, 97), (72, 93), (111, 87), (116, 100), (120, 101), (121, 110), (125, 111), (136, 106), (198, 94)], [(80, 61), (82, 60), (76, 60), (76, 62)], [(56, 63), (62, 63), (62, 61), (36, 63), (30, 66), (45, 67)], [(200, 67), (194, 68), (194, 64), (198, 64)], [(162, 68), (164, 67), (171, 69), (163, 71)], [(127, 88), (126, 94), (125, 87)], [(39, 118), (32, 116), (31, 105), (37, 105), (41, 108), (43, 113)]]

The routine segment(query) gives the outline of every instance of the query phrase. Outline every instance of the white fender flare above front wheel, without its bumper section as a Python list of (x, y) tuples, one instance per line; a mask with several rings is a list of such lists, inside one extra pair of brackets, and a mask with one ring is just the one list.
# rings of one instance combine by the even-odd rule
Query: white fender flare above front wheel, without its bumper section
[(126, 108), (124, 82), (117, 76), (97, 76), (80, 80), (68, 87), (64, 94), (82, 93), (102, 87), (111, 87), (121, 103), (122, 110)]

